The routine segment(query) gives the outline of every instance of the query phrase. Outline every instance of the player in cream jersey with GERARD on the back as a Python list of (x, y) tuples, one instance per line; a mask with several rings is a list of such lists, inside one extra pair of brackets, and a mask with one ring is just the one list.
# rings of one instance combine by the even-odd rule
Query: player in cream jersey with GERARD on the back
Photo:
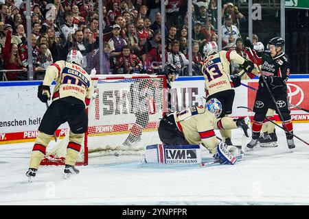
[(38, 137), (32, 149), (29, 170), (26, 172), (30, 181), (36, 176), (38, 166), (54, 132), (65, 122), (68, 122), (70, 127), (65, 157), (65, 177), (79, 173), (74, 166), (84, 140), (84, 132), (88, 127), (85, 107), (89, 105), (93, 92), (91, 77), (81, 67), (82, 60), (80, 51), (71, 50), (67, 55), (67, 62), (58, 61), (47, 67), (43, 85), (38, 86), (38, 99), (47, 103), (51, 96), (49, 87), (54, 79), (56, 80), (52, 104), (48, 107), (38, 127)]

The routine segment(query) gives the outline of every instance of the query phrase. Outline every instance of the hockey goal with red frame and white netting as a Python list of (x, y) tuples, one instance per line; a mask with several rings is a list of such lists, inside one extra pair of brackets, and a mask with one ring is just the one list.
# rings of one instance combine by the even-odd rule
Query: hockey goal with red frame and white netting
[[(77, 165), (89, 157), (143, 155), (146, 145), (160, 142), (159, 118), (166, 109), (163, 75), (95, 75), (94, 93), (88, 107), (88, 131)], [(47, 147), (41, 165), (65, 163), (69, 130), (65, 138)], [(103, 162), (104, 163), (104, 162)]]

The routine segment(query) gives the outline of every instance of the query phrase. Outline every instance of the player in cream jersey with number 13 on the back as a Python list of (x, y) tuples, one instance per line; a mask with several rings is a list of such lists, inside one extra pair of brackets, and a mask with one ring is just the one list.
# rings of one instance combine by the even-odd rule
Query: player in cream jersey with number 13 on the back
[[(222, 119), (231, 114), (233, 107), (233, 100), (235, 96), (236, 88), (240, 86), (240, 77), (236, 76), (231, 79), (229, 73), (229, 67), (231, 62), (239, 64), (242, 69), (250, 73), (253, 70), (253, 63), (245, 60), (238, 55), (235, 50), (232, 51), (220, 51), (218, 52), (218, 46), (216, 42), (206, 42), (204, 46), (205, 61), (203, 62), (202, 71), (205, 77), (205, 90), (207, 101), (216, 98), (222, 104), (222, 114), (218, 120), (217, 126), (220, 128), (220, 134), (224, 138), (225, 143), (232, 145), (231, 143), (231, 130), (226, 129), (222, 123)], [(249, 118), (240, 118), (239, 120), (233, 120), (232, 118), (225, 118), (226, 122), (229, 121), (229, 125), (234, 127), (242, 127), (247, 137), (247, 129), (249, 128)]]

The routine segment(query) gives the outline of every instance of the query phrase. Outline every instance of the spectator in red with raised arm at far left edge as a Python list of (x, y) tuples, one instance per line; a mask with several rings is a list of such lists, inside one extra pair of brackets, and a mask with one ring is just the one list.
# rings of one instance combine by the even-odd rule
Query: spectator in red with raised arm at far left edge
[[(12, 29), (9, 29), (5, 38), (5, 47), (3, 49), (3, 60), (5, 70), (24, 70), (27, 68), (23, 67), (21, 63), (21, 57), (19, 56), (19, 49), (17, 44), (11, 43)], [(17, 81), (27, 79), (27, 73), (22, 72), (10, 72), (6, 73), (8, 81)]]

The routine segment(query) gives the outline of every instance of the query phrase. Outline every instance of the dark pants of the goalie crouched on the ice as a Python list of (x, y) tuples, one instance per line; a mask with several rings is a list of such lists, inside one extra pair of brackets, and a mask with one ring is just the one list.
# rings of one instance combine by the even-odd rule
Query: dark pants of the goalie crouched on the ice
[(164, 116), (159, 124), (159, 138), (163, 144), (168, 145), (187, 145), (189, 144), (185, 140), (183, 133), (179, 131), (176, 126), (174, 115), (170, 114), (169, 116)]

